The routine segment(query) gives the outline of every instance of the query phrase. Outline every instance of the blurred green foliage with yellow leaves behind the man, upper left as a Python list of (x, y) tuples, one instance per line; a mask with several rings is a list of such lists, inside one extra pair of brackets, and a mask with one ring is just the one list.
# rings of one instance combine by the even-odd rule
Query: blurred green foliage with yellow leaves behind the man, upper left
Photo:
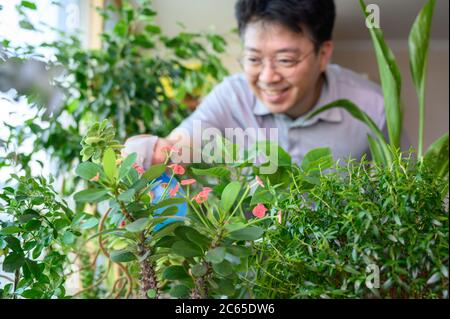
[[(27, 12), (37, 5), (22, 1), (17, 6), (22, 28), (50, 28), (28, 19)], [(0, 90), (14, 88), (16, 97), (26, 95), (37, 111), (24, 125), (10, 126), (10, 138), (2, 141), (7, 147), (34, 137), (30, 153), (6, 156), (21, 169), (27, 170), (33, 153), (45, 150), (56, 171), (70, 171), (79, 161), (86, 128), (103, 119), (117, 127), (122, 140), (142, 133), (165, 136), (228, 74), (219, 58), (226, 50), (222, 36), (183, 29), (166, 36), (155, 23), (151, 1), (116, 1), (97, 10), (110, 25), (101, 33), (98, 49), (84, 48), (79, 33), (55, 28), (56, 41), (21, 46), (8, 39), (1, 42)], [(53, 57), (44, 59), (42, 48)]]

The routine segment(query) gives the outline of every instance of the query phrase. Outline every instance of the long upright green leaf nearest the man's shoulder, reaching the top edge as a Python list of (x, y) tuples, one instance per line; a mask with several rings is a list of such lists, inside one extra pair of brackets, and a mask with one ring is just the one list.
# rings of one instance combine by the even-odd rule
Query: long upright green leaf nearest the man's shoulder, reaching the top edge
[[(367, 18), (369, 13), (366, 12), (366, 5), (363, 0), (360, 0), (360, 5)], [(399, 148), (403, 124), (401, 105), (402, 80), (400, 71), (395, 56), (387, 46), (381, 30), (378, 28), (369, 28), (369, 32), (372, 37), (378, 61), (389, 141), (391, 146)]]

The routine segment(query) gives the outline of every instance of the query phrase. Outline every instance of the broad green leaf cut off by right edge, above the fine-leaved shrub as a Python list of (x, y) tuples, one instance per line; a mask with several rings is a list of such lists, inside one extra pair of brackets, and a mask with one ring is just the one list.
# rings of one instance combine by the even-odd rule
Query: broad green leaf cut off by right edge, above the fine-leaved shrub
[(442, 178), (448, 174), (448, 133), (430, 145), (423, 158), (423, 163), (432, 172), (435, 172), (436, 176)]

